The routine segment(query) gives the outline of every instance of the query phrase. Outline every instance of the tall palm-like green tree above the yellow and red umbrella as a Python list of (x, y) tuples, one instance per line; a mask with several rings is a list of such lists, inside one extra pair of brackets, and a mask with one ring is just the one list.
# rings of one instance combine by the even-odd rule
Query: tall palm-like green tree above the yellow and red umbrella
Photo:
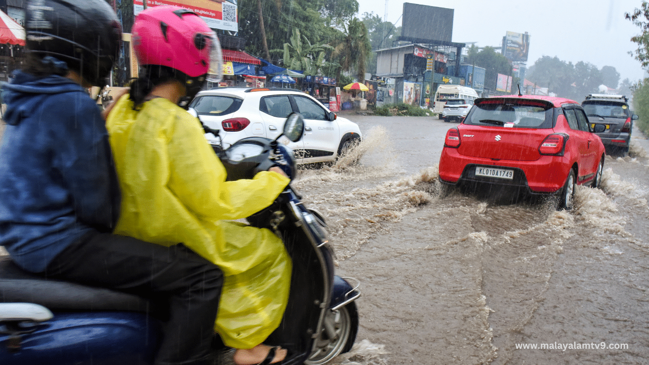
[(365, 24), (358, 18), (352, 18), (345, 27), (345, 32), (339, 32), (331, 45), (334, 47), (332, 59), (340, 65), (339, 71), (355, 69), (358, 81), (363, 82), (367, 60), (372, 53)]

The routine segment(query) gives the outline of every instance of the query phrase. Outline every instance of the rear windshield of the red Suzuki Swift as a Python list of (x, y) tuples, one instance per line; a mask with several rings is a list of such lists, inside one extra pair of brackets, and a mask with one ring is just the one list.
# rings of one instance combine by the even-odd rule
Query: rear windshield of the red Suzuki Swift
[(509, 128), (552, 128), (553, 108), (535, 101), (487, 100), (471, 109), (463, 124)]

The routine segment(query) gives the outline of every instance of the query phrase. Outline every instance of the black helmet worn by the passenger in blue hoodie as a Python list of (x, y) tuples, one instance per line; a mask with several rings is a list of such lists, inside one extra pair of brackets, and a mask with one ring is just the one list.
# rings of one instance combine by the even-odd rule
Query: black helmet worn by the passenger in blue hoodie
[(29, 0), (27, 52), (67, 63), (94, 86), (103, 86), (121, 42), (121, 25), (106, 0)]

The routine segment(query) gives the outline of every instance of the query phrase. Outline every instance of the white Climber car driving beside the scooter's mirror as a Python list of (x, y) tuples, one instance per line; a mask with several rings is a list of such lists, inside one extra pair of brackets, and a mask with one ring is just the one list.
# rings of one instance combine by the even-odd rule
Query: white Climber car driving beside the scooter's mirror
[[(189, 112), (219, 130), (224, 148), (247, 137), (275, 139), (284, 129), (286, 117), (299, 112), (304, 117), (304, 136), (288, 147), (300, 164), (335, 161), (361, 140), (356, 123), (337, 117), (310, 95), (293, 89), (214, 88), (199, 92)], [(210, 144), (219, 144), (213, 134), (205, 137)]]

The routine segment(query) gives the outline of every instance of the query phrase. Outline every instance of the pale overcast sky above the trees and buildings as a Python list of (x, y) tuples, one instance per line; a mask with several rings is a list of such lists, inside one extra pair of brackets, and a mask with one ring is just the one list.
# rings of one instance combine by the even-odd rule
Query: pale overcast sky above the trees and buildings
[[(499, 46), (507, 31), (530, 34), (528, 68), (543, 56), (572, 62), (591, 62), (598, 68), (613, 66), (635, 82), (643, 78), (631, 36), (640, 28), (624, 19), (625, 12), (640, 7), (641, 0), (411, 0), (408, 3), (455, 10), (453, 42), (477, 42), (478, 47)], [(387, 0), (387, 21), (401, 25), (402, 0)], [(358, 0), (364, 12), (384, 18), (386, 2)]]

